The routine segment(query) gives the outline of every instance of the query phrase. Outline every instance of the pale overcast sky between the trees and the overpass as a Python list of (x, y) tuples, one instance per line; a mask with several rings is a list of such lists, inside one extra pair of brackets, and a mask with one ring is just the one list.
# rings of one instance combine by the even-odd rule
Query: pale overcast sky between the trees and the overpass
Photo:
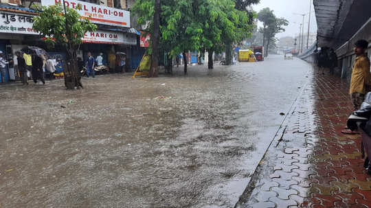
[[(315, 21), (315, 13), (313, 12), (313, 0), (260, 0), (258, 5), (253, 5), (256, 12), (262, 10), (262, 8), (270, 8), (273, 10), (277, 17), (284, 17), (289, 21), (289, 25), (285, 27), (286, 32), (277, 34), (277, 37), (282, 36), (295, 36), (299, 34), (300, 23), (303, 21), (303, 17), (298, 14), (309, 13), (309, 1), (312, 4), (311, 13), (311, 33), (317, 32), (317, 21)], [(258, 26), (262, 26), (258, 24)], [(304, 19), (304, 34), (308, 32), (308, 15)]]

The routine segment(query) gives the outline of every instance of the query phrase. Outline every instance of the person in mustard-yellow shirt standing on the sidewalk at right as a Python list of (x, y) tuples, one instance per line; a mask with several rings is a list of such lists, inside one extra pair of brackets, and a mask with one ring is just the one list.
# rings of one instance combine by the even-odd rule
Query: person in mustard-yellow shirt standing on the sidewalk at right
[[(370, 73), (370, 59), (366, 56), (366, 49), (368, 49), (368, 42), (359, 40), (355, 43), (355, 65), (352, 70), (352, 78), (350, 80), (349, 94), (352, 98), (352, 104), (355, 111), (361, 107), (365, 95), (370, 91), (371, 73)], [(344, 134), (358, 134), (357, 131), (349, 129), (341, 131)]]

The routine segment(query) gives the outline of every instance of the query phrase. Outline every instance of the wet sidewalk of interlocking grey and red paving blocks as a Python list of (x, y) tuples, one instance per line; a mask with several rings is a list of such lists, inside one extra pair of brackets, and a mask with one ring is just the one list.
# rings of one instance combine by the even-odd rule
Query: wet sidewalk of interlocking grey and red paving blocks
[(343, 135), (348, 84), (314, 74), (236, 207), (371, 207), (359, 135)]

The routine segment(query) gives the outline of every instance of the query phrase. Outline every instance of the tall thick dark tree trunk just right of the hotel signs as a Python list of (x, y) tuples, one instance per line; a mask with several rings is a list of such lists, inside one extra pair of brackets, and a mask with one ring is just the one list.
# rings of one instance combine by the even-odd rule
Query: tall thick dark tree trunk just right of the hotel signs
[(150, 66), (150, 78), (159, 76), (159, 25), (160, 25), (160, 0), (155, 0), (155, 14), (153, 15), (152, 33), (152, 64)]

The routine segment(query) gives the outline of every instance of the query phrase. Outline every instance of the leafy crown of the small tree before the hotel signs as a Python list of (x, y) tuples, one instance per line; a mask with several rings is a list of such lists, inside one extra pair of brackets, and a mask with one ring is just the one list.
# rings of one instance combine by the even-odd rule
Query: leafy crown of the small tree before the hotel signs
[(43, 7), (43, 12), (34, 17), (33, 28), (45, 37), (45, 43), (49, 46), (70, 43), (71, 47), (76, 49), (82, 43), (85, 32), (93, 32), (97, 29), (95, 24), (87, 18), (82, 18), (76, 10), (81, 10), (81, 5), (75, 9), (66, 8), (66, 12), (60, 3)]

